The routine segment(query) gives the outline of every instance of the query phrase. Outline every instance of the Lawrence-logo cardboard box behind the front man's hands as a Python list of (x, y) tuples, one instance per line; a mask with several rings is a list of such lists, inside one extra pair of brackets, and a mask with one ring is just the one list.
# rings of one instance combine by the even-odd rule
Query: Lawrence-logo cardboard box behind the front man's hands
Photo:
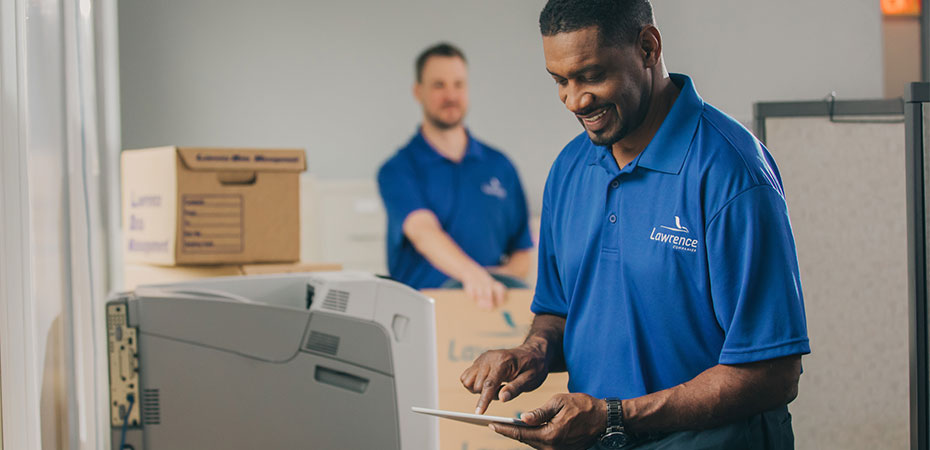
[[(459, 376), (485, 350), (511, 348), (523, 343), (530, 329), (533, 292), (511, 289), (508, 300), (494, 311), (478, 309), (461, 290), (425, 290), (436, 301), (436, 346), (439, 357), (439, 408), (474, 412), (478, 396), (462, 387)], [(568, 374), (550, 374), (538, 389), (507, 403), (494, 401), (487, 414), (517, 417), (542, 406), (550, 397), (568, 392)], [(486, 427), (440, 419), (442, 450), (510, 450), (528, 448)]]

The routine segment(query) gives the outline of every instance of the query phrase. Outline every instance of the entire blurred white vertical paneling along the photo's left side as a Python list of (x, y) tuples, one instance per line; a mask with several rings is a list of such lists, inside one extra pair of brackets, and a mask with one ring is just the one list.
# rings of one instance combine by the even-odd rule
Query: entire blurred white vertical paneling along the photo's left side
[(97, 375), (103, 340), (96, 337), (105, 257), (95, 234), (102, 221), (91, 5), (0, 3), (0, 399), (7, 448), (105, 442), (96, 420), (105, 408), (98, 400), (106, 378)]

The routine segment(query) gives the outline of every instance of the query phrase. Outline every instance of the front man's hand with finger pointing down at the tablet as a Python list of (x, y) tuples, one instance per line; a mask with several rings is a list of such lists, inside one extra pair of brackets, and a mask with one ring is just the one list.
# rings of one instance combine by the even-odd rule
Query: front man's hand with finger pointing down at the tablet
[(509, 350), (482, 353), (459, 379), (465, 389), (473, 394), (481, 394), (475, 414), (484, 414), (491, 400), (506, 402), (523, 392), (532, 391), (548, 375), (545, 351), (523, 344)]

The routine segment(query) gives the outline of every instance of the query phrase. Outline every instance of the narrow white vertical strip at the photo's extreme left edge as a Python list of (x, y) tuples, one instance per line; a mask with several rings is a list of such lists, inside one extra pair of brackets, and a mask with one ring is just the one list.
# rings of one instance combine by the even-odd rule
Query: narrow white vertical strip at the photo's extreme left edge
[[(40, 445), (26, 183), (26, 2), (0, 1), (0, 379), (4, 447)], [(9, 414), (16, 411), (16, 414)]]

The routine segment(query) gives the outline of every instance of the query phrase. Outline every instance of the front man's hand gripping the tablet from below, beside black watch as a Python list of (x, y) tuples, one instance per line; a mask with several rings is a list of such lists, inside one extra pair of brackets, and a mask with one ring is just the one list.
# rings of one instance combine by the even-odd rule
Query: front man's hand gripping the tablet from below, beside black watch
[(587, 394), (558, 394), (520, 419), (534, 428), (489, 426), (533, 448), (584, 450), (594, 445), (607, 427), (607, 402)]

